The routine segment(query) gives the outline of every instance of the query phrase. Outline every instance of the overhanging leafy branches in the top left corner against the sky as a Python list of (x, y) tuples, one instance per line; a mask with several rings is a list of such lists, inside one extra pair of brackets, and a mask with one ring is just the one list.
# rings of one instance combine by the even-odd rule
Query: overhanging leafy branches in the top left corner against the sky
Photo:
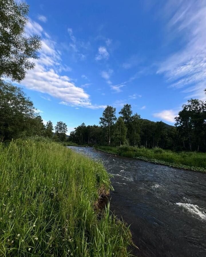
[(41, 41), (37, 35), (25, 36), (29, 6), (14, 0), (0, 0), (0, 77), (21, 81), (34, 68)]

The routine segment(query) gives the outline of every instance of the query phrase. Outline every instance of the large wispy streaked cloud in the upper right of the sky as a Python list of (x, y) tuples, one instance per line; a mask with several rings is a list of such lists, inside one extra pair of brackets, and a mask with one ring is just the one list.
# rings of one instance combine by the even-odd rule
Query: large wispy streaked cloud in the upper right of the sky
[[(168, 28), (181, 36), (184, 45), (159, 65), (172, 87), (188, 87), (187, 97), (205, 99), (206, 79), (206, 1), (168, 1), (165, 12), (170, 15)], [(171, 15), (172, 14), (172, 15)]]

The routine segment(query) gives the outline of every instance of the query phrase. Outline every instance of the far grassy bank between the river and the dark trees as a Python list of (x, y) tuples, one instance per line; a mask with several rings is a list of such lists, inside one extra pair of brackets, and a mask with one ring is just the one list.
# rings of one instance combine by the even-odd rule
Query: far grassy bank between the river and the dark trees
[(97, 150), (137, 158), (157, 164), (198, 172), (206, 172), (206, 154), (200, 152), (173, 152), (161, 148), (137, 148), (131, 146), (95, 146)]

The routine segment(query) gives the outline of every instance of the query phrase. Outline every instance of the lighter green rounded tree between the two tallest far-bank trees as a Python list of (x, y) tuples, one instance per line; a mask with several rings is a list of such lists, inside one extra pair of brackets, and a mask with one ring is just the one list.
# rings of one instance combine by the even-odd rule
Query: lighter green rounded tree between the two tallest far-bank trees
[(114, 142), (120, 146), (124, 144), (126, 140), (126, 132), (127, 128), (124, 124), (124, 120), (122, 117), (119, 117), (115, 124)]

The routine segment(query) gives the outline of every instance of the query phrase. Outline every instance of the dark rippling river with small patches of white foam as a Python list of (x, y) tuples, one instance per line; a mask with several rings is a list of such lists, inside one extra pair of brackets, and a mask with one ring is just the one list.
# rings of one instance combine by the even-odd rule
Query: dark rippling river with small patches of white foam
[(206, 256), (206, 174), (70, 148), (113, 175), (110, 208), (131, 224), (135, 256)]

